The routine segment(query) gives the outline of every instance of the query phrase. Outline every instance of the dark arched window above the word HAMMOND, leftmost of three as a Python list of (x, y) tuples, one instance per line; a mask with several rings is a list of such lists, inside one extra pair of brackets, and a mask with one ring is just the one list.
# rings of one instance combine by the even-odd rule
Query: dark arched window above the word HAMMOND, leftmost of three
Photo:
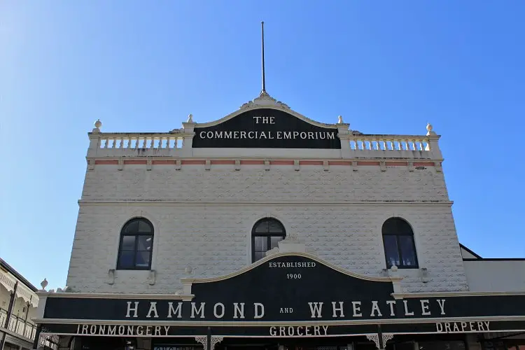
[(117, 269), (151, 269), (153, 225), (145, 218), (133, 218), (120, 231)]

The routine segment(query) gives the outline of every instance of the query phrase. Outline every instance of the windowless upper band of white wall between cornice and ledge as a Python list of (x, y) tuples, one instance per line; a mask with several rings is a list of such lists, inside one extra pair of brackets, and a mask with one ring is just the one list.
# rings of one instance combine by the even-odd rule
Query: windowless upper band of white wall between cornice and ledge
[(295, 172), (291, 166), (246, 165), (97, 165), (87, 172), (83, 200), (189, 200), (194, 202), (349, 202), (349, 201), (448, 201), (442, 173), (433, 167), (408, 172), (406, 167), (305, 165)]

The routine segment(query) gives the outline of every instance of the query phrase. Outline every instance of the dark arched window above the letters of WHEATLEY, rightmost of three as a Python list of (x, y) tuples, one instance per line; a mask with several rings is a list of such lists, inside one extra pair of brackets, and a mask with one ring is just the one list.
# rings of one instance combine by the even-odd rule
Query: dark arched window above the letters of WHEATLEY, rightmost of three
[(386, 268), (416, 269), (417, 255), (414, 232), (402, 218), (389, 218), (381, 229)]

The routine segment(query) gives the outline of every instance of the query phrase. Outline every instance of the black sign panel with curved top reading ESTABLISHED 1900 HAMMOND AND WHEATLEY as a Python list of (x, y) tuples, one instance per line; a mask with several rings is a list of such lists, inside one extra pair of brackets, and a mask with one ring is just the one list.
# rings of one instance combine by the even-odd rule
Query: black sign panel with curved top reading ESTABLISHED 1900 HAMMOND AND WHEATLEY
[(524, 295), (409, 297), (304, 255), (276, 255), (228, 279), (194, 281), (191, 301), (52, 295), (44, 318), (112, 321), (362, 321), (525, 315)]

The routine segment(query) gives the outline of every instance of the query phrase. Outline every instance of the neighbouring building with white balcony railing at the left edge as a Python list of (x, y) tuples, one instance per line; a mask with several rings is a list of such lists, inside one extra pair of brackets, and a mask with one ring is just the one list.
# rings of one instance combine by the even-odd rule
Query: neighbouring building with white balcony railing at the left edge
[[(38, 295), (36, 287), (0, 258), (0, 350), (33, 349)], [(41, 345), (56, 349), (57, 337), (42, 337)]]

